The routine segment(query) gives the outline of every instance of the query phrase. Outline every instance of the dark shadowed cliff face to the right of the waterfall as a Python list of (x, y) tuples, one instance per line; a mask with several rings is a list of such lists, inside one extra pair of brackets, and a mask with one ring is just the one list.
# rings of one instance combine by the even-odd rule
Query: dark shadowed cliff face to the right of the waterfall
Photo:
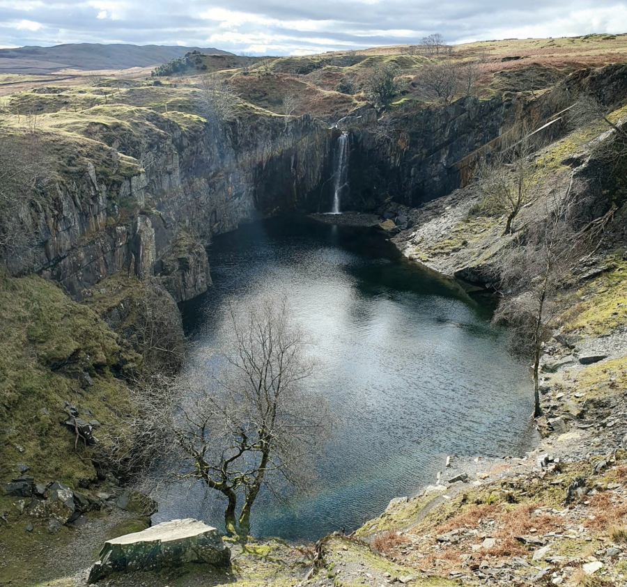
[(392, 199), (416, 207), (446, 196), (472, 182), (477, 160), (509, 130), (546, 125), (543, 139), (553, 141), (572, 128), (567, 109), (580, 93), (609, 105), (626, 86), (627, 67), (617, 64), (579, 70), (537, 94), (466, 97), (446, 107), (385, 114), (378, 122), (373, 109), (363, 109), (339, 123), (351, 131), (350, 206), (372, 209)]

